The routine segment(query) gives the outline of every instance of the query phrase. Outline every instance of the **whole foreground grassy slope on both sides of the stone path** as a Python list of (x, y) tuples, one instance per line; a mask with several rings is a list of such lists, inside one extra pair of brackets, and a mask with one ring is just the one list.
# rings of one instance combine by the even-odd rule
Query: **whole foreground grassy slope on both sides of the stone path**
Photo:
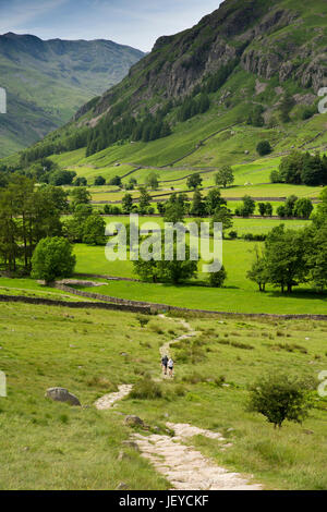
[[(326, 489), (326, 400), (314, 392), (310, 418), (303, 425), (286, 423), (280, 431), (246, 412), (247, 386), (261, 375), (278, 369), (315, 378), (326, 368), (326, 324), (223, 317), (187, 321), (198, 332), (194, 346), (202, 357), (194, 364), (179, 358), (177, 344), (174, 381), (150, 387), (144, 377), (159, 376), (159, 345), (173, 337), (171, 331), (182, 331), (175, 319), (153, 317), (142, 328), (135, 315), (120, 312), (1, 306), (8, 398), (0, 399), (5, 461), (0, 488), (114, 489), (124, 481), (130, 489), (168, 489), (137, 452), (123, 448), (119, 460), (122, 441), (131, 435), (122, 412), (150, 427), (161, 428), (168, 413), (170, 422), (220, 431), (232, 444), (225, 451), (203, 437), (192, 443), (218, 465), (254, 475), (267, 489)], [(182, 350), (192, 343), (182, 342)], [(306, 353), (277, 350), (276, 343), (305, 346)], [(245, 350), (249, 345), (252, 350)], [(93, 407), (118, 385), (136, 382), (134, 395), (118, 407)], [(52, 386), (68, 388), (88, 407), (46, 400), (45, 390)]]

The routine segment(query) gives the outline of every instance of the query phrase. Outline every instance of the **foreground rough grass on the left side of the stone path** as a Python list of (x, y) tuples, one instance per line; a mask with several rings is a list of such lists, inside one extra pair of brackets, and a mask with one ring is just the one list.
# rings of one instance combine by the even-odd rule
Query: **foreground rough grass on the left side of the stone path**
[[(136, 452), (118, 460), (130, 430), (114, 411), (92, 406), (118, 383), (135, 382), (135, 371), (158, 358), (165, 337), (142, 329), (134, 315), (66, 312), (1, 305), (8, 398), (0, 399), (0, 488), (114, 489), (125, 481), (132, 489), (167, 489)], [(122, 324), (129, 333), (121, 332)], [(68, 388), (89, 409), (46, 400), (53, 386)]]

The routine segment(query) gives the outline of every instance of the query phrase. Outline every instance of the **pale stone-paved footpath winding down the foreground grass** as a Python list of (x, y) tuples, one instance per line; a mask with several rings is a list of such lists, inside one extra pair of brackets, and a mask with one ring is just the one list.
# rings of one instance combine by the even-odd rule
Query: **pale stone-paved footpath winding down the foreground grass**
[[(159, 317), (167, 319), (165, 315), (159, 315)], [(175, 320), (172, 319), (172, 321)], [(196, 331), (193, 331), (185, 320), (180, 320), (180, 324), (189, 332), (161, 345), (159, 349), (160, 356), (169, 355), (171, 344), (196, 336)], [(119, 400), (126, 397), (132, 388), (132, 385), (119, 386), (118, 392), (105, 394), (96, 401), (95, 406), (102, 411), (111, 409)], [(227, 442), (221, 434), (194, 427), (190, 424), (167, 422), (166, 425), (174, 432), (173, 436), (133, 434), (132, 440), (137, 444), (142, 455), (171, 483), (171, 489), (262, 490), (261, 485), (250, 483), (251, 477), (244, 478), (238, 473), (231, 473), (218, 466), (214, 461), (210, 461), (190, 446), (190, 440), (194, 436), (204, 436), (217, 440), (221, 443), (220, 449), (226, 450), (231, 443)]]

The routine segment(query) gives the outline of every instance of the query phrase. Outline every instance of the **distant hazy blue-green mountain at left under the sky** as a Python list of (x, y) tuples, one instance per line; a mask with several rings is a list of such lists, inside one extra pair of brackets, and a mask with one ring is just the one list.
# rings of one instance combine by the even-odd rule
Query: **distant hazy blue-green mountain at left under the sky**
[(41, 40), (0, 36), (0, 156), (26, 147), (66, 123), (85, 101), (120, 82), (144, 53), (110, 40)]

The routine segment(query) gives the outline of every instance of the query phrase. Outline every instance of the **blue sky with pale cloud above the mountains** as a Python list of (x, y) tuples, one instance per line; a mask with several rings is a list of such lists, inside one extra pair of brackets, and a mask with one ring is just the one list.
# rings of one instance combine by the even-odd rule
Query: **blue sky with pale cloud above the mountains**
[(195, 25), (222, 0), (0, 0), (0, 34), (110, 39), (149, 51), (156, 39)]

